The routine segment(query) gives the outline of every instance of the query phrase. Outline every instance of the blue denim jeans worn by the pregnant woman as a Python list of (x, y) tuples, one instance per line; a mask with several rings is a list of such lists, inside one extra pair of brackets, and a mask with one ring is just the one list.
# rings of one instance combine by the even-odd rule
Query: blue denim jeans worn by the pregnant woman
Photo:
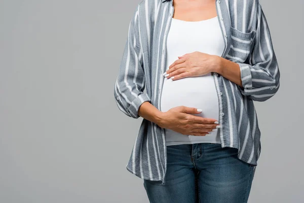
[(243, 203), (248, 201), (255, 165), (238, 149), (217, 143), (167, 146), (166, 183), (143, 180), (150, 202)]

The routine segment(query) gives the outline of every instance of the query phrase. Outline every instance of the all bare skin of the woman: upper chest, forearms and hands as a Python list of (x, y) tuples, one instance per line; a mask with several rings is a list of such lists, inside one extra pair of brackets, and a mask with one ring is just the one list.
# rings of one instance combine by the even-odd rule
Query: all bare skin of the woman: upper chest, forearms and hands
[[(217, 15), (214, 0), (174, 0), (173, 18), (185, 21), (201, 21), (213, 18)], [(217, 55), (210, 55), (202, 52), (185, 53), (178, 56), (164, 73), (172, 80), (180, 80), (186, 77), (203, 76), (210, 72), (215, 72), (226, 79), (242, 87), (240, 67), (237, 63), (224, 59)], [(200, 114), (197, 108), (179, 106), (162, 112), (149, 102), (144, 102), (138, 115), (156, 123), (162, 128), (167, 128), (181, 134), (191, 134), (194, 136), (205, 136), (208, 132), (221, 127), (214, 123), (213, 118), (203, 118), (191, 114)]]

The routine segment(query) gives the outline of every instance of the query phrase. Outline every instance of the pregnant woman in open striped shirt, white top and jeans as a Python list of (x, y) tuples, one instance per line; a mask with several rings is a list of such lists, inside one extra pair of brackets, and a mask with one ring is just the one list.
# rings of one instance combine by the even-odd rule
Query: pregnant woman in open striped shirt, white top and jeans
[(149, 201), (247, 202), (261, 151), (253, 101), (279, 79), (258, 0), (141, 1), (114, 94), (143, 118), (126, 168)]

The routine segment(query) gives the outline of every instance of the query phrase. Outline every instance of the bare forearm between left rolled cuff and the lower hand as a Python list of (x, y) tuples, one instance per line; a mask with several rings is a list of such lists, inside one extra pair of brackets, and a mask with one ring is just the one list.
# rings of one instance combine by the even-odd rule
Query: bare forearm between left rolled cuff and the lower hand
[(146, 120), (159, 124), (162, 120), (163, 112), (158, 110), (154, 105), (149, 102), (144, 102), (140, 105), (138, 115)]

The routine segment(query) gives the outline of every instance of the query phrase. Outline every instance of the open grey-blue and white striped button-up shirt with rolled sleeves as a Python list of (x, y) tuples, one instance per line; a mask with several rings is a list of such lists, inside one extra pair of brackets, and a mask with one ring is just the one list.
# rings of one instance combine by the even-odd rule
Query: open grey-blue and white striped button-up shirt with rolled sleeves
[[(222, 57), (239, 64), (243, 86), (212, 72), (222, 125), (217, 133), (222, 148), (237, 148), (239, 159), (256, 166), (261, 133), (253, 101), (268, 100), (280, 84), (269, 26), (258, 0), (214, 3), (225, 41)], [(135, 9), (114, 88), (118, 108), (129, 117), (139, 118), (138, 109), (145, 101), (161, 111), (166, 39), (173, 11), (171, 0), (142, 0)], [(165, 142), (164, 128), (143, 119), (127, 170), (141, 179), (161, 180), (164, 185)]]

